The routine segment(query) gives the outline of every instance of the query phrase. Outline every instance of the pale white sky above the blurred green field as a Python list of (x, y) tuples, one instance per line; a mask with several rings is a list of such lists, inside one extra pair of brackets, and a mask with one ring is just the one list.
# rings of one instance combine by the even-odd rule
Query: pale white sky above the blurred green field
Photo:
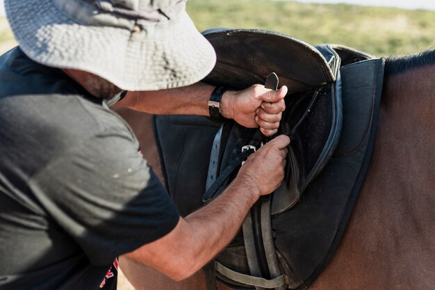
[[(19, 1), (19, 0), (15, 0)], [(286, 0), (277, 0), (286, 1)], [(315, 3), (351, 3), (367, 6), (393, 6), (406, 9), (427, 9), (435, 10), (435, 1), (433, 0), (298, 0), (299, 2)], [(0, 0), (0, 16), (5, 15), (3, 0)]]

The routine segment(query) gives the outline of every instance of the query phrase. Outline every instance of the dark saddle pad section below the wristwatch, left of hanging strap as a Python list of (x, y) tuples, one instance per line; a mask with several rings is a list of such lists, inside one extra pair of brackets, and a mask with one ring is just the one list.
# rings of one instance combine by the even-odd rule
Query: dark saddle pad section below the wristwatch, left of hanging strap
[(201, 197), (206, 190), (208, 161), (219, 128), (220, 124), (202, 116), (156, 115), (154, 118), (165, 187), (181, 216), (203, 205)]

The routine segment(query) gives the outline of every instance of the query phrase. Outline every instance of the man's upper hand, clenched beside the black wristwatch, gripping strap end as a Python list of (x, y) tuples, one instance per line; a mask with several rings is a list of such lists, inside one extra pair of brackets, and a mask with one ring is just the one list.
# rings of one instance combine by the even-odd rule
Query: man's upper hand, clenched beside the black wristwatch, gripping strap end
[(221, 100), (222, 115), (247, 128), (260, 127), (265, 136), (272, 136), (277, 133), (282, 112), (286, 108), (286, 94), (286, 86), (270, 90), (254, 85), (237, 92), (227, 91)]

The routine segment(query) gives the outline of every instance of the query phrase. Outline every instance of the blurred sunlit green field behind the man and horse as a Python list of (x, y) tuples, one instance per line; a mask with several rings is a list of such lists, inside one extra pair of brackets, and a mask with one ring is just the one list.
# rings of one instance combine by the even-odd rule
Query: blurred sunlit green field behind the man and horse
[[(430, 10), (272, 0), (189, 0), (188, 13), (199, 31), (217, 26), (268, 29), (311, 45), (338, 43), (377, 56), (435, 46), (435, 11)], [(1, 18), (0, 54), (13, 46), (8, 23)]]

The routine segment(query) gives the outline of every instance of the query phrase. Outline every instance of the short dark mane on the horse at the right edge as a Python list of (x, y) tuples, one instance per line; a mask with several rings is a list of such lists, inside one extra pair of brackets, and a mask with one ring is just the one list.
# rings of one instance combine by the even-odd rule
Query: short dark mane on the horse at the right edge
[(435, 48), (428, 49), (419, 54), (386, 58), (385, 73), (388, 75), (399, 74), (400, 72), (430, 65), (435, 65)]

